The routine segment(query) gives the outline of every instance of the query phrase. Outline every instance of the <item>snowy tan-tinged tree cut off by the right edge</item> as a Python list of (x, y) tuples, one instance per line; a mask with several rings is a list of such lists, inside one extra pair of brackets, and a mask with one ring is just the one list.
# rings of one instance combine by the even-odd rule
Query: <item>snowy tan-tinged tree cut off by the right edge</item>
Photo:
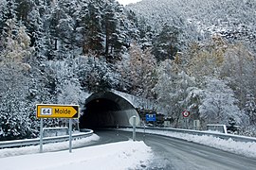
[(256, 94), (256, 58), (242, 44), (230, 44), (225, 52), (224, 61), (220, 67), (220, 76), (229, 82), (239, 99), (239, 107), (247, 102), (247, 94)]

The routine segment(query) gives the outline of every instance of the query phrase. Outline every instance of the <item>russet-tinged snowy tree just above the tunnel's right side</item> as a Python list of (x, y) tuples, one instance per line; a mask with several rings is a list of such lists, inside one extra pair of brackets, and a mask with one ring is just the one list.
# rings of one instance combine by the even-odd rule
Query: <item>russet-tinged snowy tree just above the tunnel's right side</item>
[(136, 43), (129, 49), (126, 65), (120, 66), (125, 82), (130, 84), (130, 92), (142, 97), (155, 98), (152, 92), (156, 83), (156, 60), (150, 50), (141, 50)]

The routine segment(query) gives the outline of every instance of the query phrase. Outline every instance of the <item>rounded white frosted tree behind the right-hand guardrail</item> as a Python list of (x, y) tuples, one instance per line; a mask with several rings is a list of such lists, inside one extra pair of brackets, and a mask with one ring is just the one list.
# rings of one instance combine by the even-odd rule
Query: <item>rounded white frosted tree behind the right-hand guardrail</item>
[(210, 76), (205, 78), (206, 87), (199, 107), (200, 117), (206, 123), (228, 125), (229, 118), (232, 118), (238, 124), (242, 124), (246, 115), (238, 108), (234, 92), (223, 80)]

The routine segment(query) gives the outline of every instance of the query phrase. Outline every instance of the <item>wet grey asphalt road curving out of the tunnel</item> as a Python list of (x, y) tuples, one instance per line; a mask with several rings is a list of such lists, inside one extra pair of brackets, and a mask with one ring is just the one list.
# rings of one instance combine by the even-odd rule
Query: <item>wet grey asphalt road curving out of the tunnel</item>
[[(97, 131), (101, 136), (100, 144), (128, 140), (131, 132)], [(155, 153), (151, 167), (146, 169), (177, 169), (177, 170), (254, 170), (256, 160), (235, 155), (226, 151), (211, 148), (202, 144), (194, 144), (183, 140), (172, 139), (137, 133), (137, 140), (144, 140), (145, 144), (152, 147)]]

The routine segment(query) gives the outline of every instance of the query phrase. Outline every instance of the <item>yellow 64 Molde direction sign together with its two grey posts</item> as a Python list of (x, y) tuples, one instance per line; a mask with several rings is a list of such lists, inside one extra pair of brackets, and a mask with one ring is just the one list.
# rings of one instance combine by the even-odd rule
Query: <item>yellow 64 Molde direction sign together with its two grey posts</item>
[(43, 118), (69, 119), (69, 152), (72, 152), (72, 119), (79, 118), (78, 105), (36, 105), (36, 117), (40, 118), (40, 153), (43, 152)]

